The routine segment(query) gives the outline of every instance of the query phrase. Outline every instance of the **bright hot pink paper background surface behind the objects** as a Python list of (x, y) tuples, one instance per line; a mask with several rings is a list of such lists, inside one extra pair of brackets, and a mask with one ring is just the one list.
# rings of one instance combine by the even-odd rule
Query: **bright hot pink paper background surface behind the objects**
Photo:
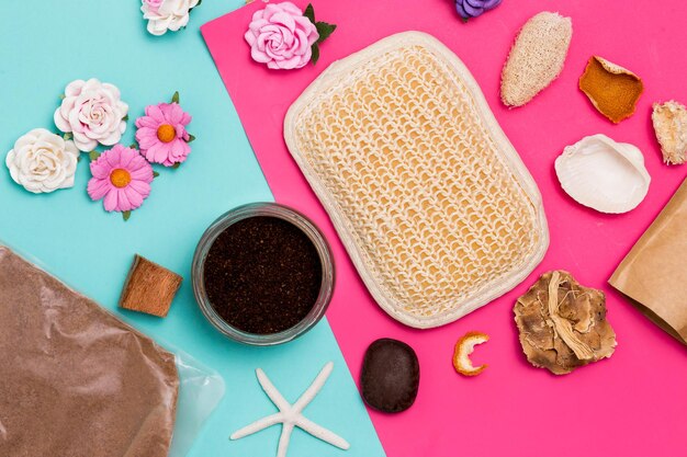
[[(303, 210), (331, 241), (338, 281), (327, 316), (354, 379), (367, 346), (376, 338), (403, 340), (418, 354), (421, 381), (415, 405), (396, 415), (370, 411), (386, 453), (391, 457), (687, 454), (687, 350), (607, 284), (687, 175), (687, 167), (662, 163), (650, 119), (652, 102), (687, 103), (687, 2), (505, 0), (468, 24), (458, 19), (451, 0), (314, 3), (316, 18), (339, 28), (322, 45), (317, 66), (297, 71), (270, 71), (250, 60), (243, 33), (252, 12), (264, 7), (261, 1), (202, 31), (277, 201)], [(543, 10), (573, 19), (565, 69), (530, 104), (509, 111), (498, 95), (502, 66), (519, 27)], [(520, 286), (454, 323), (427, 331), (396, 323), (374, 304), (282, 139), (289, 105), (328, 64), (408, 30), (435, 35), (471, 69), (539, 184), (551, 231), (547, 256)], [(645, 83), (637, 114), (618, 126), (601, 117), (577, 90), (592, 55), (631, 69)], [(632, 142), (644, 152), (653, 182), (646, 199), (629, 214), (586, 209), (559, 186), (555, 157), (566, 145), (597, 133)], [(564, 377), (527, 363), (513, 316), (517, 297), (553, 269), (568, 270), (583, 285), (607, 293), (608, 318), (619, 342), (612, 358)], [(473, 357), (489, 366), (476, 378), (464, 378), (453, 370), (451, 353), (457, 339), (471, 330), (492, 336)]]

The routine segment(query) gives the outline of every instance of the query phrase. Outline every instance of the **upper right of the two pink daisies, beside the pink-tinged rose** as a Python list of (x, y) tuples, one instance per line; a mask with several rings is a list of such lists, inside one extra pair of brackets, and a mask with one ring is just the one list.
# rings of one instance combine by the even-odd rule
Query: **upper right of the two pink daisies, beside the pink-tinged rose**
[(136, 119), (136, 141), (150, 162), (171, 167), (187, 160), (191, 136), (185, 126), (191, 116), (178, 103), (160, 103), (146, 107), (146, 115)]

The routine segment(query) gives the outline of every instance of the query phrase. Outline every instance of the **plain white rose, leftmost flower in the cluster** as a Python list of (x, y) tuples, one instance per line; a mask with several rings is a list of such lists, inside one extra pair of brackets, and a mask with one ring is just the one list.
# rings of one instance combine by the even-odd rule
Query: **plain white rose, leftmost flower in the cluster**
[(74, 186), (78, 158), (74, 141), (34, 128), (14, 142), (4, 163), (18, 184), (38, 194)]

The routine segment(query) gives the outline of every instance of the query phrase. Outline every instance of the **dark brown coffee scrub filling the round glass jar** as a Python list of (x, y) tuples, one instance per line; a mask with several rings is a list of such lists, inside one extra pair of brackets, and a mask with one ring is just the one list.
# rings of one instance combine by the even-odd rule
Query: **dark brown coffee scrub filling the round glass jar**
[(322, 287), (315, 244), (293, 224), (256, 216), (227, 227), (205, 260), (207, 298), (230, 325), (271, 334), (301, 322)]

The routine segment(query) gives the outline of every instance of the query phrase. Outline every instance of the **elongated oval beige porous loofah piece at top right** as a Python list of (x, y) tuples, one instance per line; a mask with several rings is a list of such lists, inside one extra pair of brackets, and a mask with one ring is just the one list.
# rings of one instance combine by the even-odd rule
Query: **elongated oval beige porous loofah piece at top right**
[(548, 11), (525, 23), (502, 72), (500, 100), (506, 106), (522, 106), (561, 75), (573, 22)]

